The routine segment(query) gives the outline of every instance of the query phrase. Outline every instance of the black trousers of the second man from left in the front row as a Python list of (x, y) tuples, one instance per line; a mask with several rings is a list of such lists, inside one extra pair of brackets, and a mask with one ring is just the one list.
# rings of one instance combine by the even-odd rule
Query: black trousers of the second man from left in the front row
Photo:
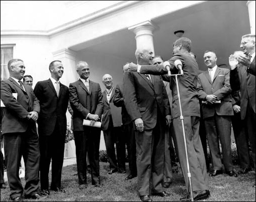
[(41, 189), (49, 189), (49, 169), (52, 160), (51, 189), (61, 187), (61, 172), (64, 158), (65, 134), (60, 134), (58, 123), (49, 136), (39, 134), (40, 144), (40, 181)]

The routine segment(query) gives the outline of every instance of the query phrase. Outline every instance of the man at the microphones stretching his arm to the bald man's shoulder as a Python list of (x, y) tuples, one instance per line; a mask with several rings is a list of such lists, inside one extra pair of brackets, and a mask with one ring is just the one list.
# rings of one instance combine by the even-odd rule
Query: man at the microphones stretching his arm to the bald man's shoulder
[[(182, 201), (202, 200), (210, 196), (205, 157), (199, 137), (200, 109), (196, 90), (198, 65), (195, 59), (190, 56), (190, 50), (190, 39), (179, 38), (173, 46), (173, 57), (162, 65), (138, 67), (138, 65), (133, 63), (130, 64), (130, 71), (138, 71), (142, 74), (162, 75), (165, 81), (171, 82), (173, 126), (177, 140), (180, 165), (187, 188), (187, 194), (181, 198)], [(176, 64), (176, 67), (176, 60), (179, 60), (181, 65)], [(167, 74), (169, 69), (172, 74), (179, 74), (179, 71), (182, 70), (183, 76), (179, 76), (178, 79), (177, 77), (176, 79), (171, 77), (170, 80), (170, 75), (168, 77)], [(176, 81), (178, 81), (178, 88)], [(178, 98), (178, 94), (180, 94), (180, 99)], [(183, 136), (186, 137), (185, 140)], [(186, 156), (185, 146), (187, 147), (188, 156)], [(190, 181), (191, 183), (189, 183)]]

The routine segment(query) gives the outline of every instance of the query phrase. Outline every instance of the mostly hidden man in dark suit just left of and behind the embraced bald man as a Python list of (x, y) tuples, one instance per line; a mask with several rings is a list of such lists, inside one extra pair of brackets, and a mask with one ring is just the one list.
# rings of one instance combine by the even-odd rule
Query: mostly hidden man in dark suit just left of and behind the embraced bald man
[[(129, 69), (129, 63), (123, 66), (123, 74)], [(123, 84), (117, 84), (114, 93), (113, 103), (116, 107), (121, 107), (122, 115), (122, 131), (127, 146), (128, 162), (129, 162), (129, 175), (125, 177), (126, 180), (132, 179), (137, 176), (136, 166), (136, 142), (134, 125), (131, 117), (126, 111), (123, 101)]]

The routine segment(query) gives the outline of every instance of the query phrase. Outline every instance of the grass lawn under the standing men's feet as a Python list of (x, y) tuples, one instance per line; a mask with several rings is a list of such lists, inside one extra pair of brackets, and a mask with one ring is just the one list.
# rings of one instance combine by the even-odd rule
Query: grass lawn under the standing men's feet
[[(80, 190), (78, 188), (78, 177), (76, 164), (63, 168), (62, 186), (66, 193), (59, 194), (51, 192), (50, 196), (44, 201), (140, 201), (137, 194), (137, 177), (131, 180), (124, 180), (127, 174), (113, 173), (107, 174), (108, 163), (100, 162), (100, 179), (102, 188), (95, 188), (91, 185), (91, 177), (88, 176), (88, 188)], [(236, 170), (238, 166), (235, 166)], [(126, 163), (126, 170), (128, 164)], [(50, 175), (49, 175), (50, 176)], [(24, 179), (22, 179), (24, 184)], [(255, 201), (255, 172), (230, 177), (227, 174), (217, 175), (210, 178), (211, 196), (205, 201)], [(154, 201), (179, 201), (185, 193), (185, 182), (179, 169), (179, 173), (173, 176), (173, 183), (167, 189), (172, 193), (171, 197), (153, 196)], [(26, 200), (25, 201), (35, 201)], [(1, 201), (11, 201), (9, 189), (1, 189)]]

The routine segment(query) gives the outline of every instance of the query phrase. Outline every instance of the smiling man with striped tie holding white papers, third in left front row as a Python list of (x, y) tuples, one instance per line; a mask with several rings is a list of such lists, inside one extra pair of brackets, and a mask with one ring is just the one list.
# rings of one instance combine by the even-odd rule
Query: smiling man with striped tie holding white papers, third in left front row
[[(99, 179), (100, 128), (93, 127), (95, 121), (100, 121), (103, 111), (101, 89), (98, 83), (89, 80), (90, 68), (86, 62), (78, 62), (76, 72), (80, 78), (69, 84), (69, 101), (73, 109), (79, 189), (87, 188), (87, 146), (92, 184), (95, 187), (101, 187)], [(91, 126), (84, 126), (84, 119), (90, 120)]]

